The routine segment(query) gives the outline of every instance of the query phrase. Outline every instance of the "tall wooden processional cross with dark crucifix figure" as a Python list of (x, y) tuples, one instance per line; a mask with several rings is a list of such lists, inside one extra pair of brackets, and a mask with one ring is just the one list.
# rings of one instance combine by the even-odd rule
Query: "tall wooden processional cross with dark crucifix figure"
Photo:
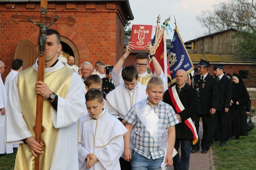
[[(73, 26), (75, 24), (75, 18), (73, 16), (68, 16), (67, 18), (58, 17), (47, 17), (47, 0), (41, 0), (40, 16), (21, 16), (12, 15), (11, 21), (18, 24), (19, 22), (33, 22), (34, 25), (40, 28), (40, 33), (38, 36), (38, 44), (40, 45), (39, 57), (38, 57), (38, 81), (44, 81), (44, 67), (45, 67), (45, 43), (46, 43), (46, 29), (51, 25), (55, 24), (67, 24), (68, 26)], [(44, 23), (46, 25), (44, 25)], [(49, 25), (47, 26), (47, 24)], [(35, 126), (33, 130), (35, 132), (35, 140), (40, 143), (41, 133), (44, 131), (42, 126), (42, 114), (43, 114), (43, 96), (37, 95), (37, 110), (35, 118)], [(39, 169), (39, 154), (35, 158), (35, 170)]]

